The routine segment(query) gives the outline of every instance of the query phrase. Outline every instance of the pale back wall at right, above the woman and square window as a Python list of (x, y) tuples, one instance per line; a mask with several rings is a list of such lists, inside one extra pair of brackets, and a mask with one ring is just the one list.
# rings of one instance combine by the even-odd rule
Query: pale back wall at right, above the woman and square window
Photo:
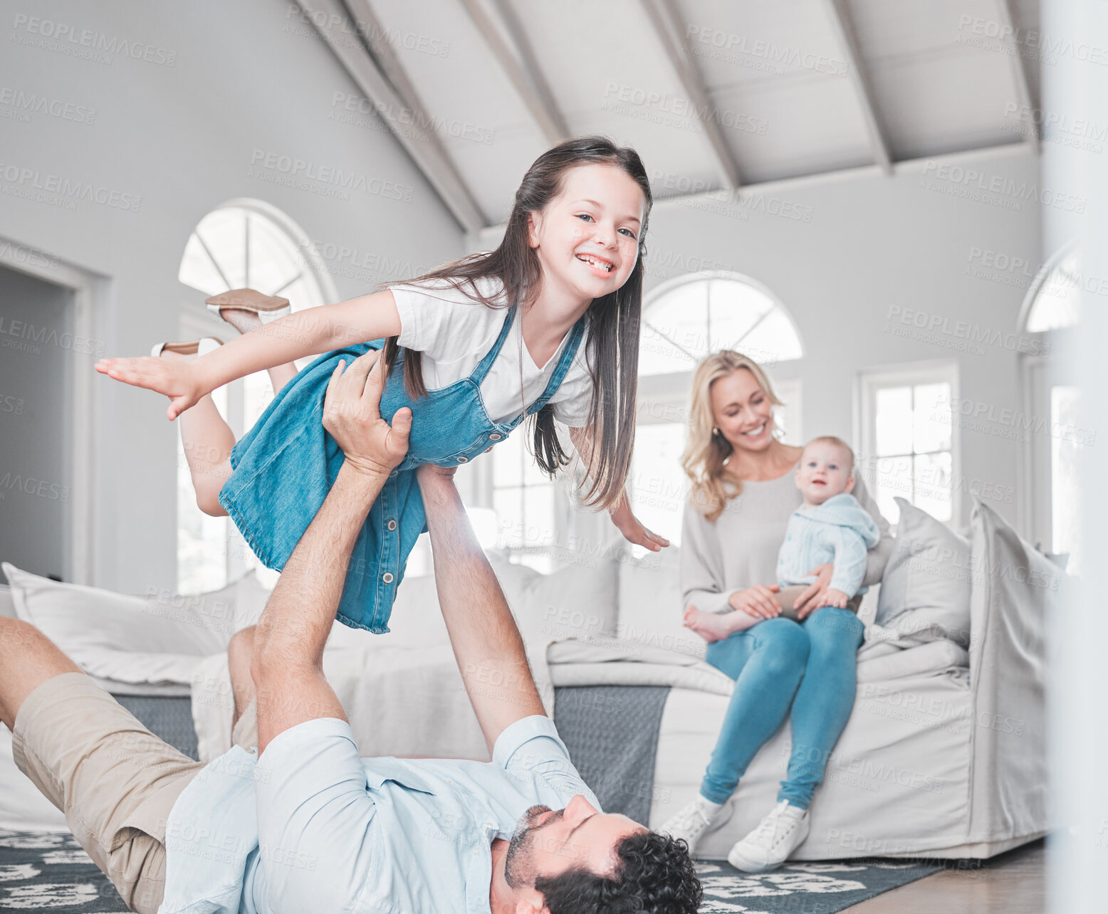
[[(955, 360), (960, 397), (997, 417), (985, 431), (958, 429), (956, 481), (974, 483), (974, 491), (985, 482), (994, 485), (988, 491), (1014, 492), (1012, 502), (989, 504), (1016, 523), (1019, 448), (1002, 437), (1001, 415), (1020, 408), (1018, 341), (958, 351), (967, 340), (957, 322), (974, 332), (1016, 330), (1030, 276), (1010, 261), (1032, 271), (1037, 264), (1040, 207), (1020, 196), (1037, 186), (1037, 158), (1017, 146), (905, 164), (894, 177), (865, 171), (752, 188), (738, 206), (704, 198), (722, 212), (658, 203), (647, 237), (649, 285), (707, 268), (736, 270), (772, 289), (792, 314), (806, 356), (770, 374), (801, 380), (804, 438), (854, 440), (853, 384), (862, 369)], [(1005, 187), (994, 195), (1005, 205), (966, 196), (982, 185)], [(1006, 269), (986, 265), (996, 255), (1006, 258)], [(932, 333), (936, 341), (894, 335), (913, 332), (902, 317), (919, 315), (929, 325), (945, 321), (948, 332)], [(968, 523), (972, 499), (961, 502), (955, 525)]]

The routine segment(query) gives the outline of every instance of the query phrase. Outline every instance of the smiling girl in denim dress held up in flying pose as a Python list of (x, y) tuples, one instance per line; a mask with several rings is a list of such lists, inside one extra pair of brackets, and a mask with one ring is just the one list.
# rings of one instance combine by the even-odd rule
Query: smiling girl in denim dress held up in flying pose
[[(524, 175), (504, 239), (491, 253), (265, 324), (283, 299), (226, 292), (209, 302), (249, 330), (242, 337), (225, 346), (209, 338), (156, 347), (160, 357), (102, 359), (96, 370), (170, 398), (201, 509), (229, 514), (258, 558), (280, 569), (343, 461), (322, 428), (331, 373), (340, 360), (383, 349), (381, 415), (392, 421), (411, 410), (409, 449), (359, 533), (338, 618), (386, 633), (408, 555), (425, 530), (414, 468), (465, 463), (525, 417), (540, 468), (553, 475), (570, 462), (558, 419), (586, 469), (582, 502), (607, 509), (630, 542), (654, 551), (668, 545), (638, 523), (624, 493), (650, 205), (634, 150), (598, 136), (568, 140)], [(318, 352), (325, 355), (296, 373), (294, 359)], [(208, 394), (261, 369), (278, 393), (236, 444)]]

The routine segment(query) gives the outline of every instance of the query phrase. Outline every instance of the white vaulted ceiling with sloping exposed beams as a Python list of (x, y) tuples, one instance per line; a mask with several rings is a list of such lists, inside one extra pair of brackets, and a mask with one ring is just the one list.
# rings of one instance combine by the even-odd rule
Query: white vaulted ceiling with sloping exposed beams
[(1036, 146), (1037, 0), (300, 0), (469, 230), (573, 135), (656, 198)]

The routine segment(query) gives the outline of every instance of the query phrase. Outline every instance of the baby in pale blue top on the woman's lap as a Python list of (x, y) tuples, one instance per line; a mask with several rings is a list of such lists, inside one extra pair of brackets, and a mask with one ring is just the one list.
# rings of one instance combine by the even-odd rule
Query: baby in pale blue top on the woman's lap
[[(814, 438), (808, 442), (797, 466), (797, 489), (803, 504), (789, 518), (784, 542), (777, 559), (781, 615), (796, 619), (797, 597), (815, 582), (810, 572), (831, 563), (830, 586), (822, 606), (847, 608), (855, 594), (864, 594), (865, 554), (878, 544), (881, 532), (869, 512), (850, 494), (854, 487), (854, 452), (838, 438)], [(689, 607), (685, 625), (709, 641), (726, 638), (760, 622), (735, 609), (704, 613)]]

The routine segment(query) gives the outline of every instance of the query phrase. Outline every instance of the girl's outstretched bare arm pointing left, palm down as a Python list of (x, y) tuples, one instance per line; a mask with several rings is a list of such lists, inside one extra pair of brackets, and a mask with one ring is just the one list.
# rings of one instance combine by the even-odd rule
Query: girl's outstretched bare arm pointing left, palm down
[(320, 305), (264, 324), (193, 361), (153, 357), (101, 359), (96, 371), (117, 381), (164, 393), (176, 419), (217, 387), (306, 356), (400, 333), (392, 291)]

